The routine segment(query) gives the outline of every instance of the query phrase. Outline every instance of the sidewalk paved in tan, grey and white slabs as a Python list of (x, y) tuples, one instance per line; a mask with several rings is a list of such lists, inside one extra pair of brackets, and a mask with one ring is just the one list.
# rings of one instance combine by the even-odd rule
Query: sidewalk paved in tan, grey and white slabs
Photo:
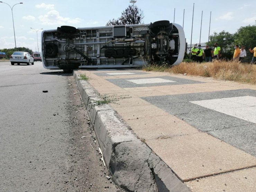
[(77, 72), (191, 191), (255, 191), (255, 85), (137, 70)]

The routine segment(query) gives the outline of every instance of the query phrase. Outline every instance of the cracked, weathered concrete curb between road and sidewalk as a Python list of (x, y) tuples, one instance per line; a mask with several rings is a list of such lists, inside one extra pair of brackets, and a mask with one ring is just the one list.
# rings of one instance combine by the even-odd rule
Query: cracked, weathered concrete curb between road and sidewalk
[(99, 93), (74, 71), (112, 180), (126, 191), (177, 191), (189, 188), (145, 143), (141, 142), (108, 105), (97, 105)]

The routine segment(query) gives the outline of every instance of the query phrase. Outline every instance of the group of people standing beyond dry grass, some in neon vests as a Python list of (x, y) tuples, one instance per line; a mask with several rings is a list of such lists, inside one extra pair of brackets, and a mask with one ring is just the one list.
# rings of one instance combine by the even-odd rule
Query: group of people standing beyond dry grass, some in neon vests
[[(208, 45), (206, 45), (203, 50), (200, 44), (198, 45), (198, 48), (197, 44), (195, 44), (194, 47), (191, 48), (192, 60), (201, 63), (203, 60), (205, 60), (205, 62), (211, 62), (212, 59), (220, 59), (220, 46), (218, 46), (218, 43), (214, 43), (214, 47), (214, 50), (212, 50)], [(241, 49), (239, 49), (239, 46), (236, 45), (234, 49), (235, 51), (232, 61), (243, 61), (246, 57), (245, 46), (243, 45), (241, 46)], [(249, 48), (249, 52), (254, 53), (251, 63), (256, 63), (256, 47), (253, 49)]]

